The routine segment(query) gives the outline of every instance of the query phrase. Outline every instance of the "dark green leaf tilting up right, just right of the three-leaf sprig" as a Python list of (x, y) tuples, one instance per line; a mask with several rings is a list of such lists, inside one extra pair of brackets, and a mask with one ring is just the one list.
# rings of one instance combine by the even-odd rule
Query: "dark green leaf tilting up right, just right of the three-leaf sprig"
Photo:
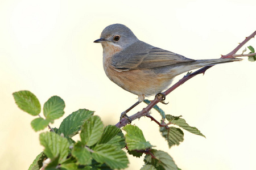
[(63, 133), (65, 137), (73, 137), (79, 130), (81, 130), (84, 121), (92, 116), (94, 111), (87, 109), (79, 109), (76, 112), (69, 114), (60, 124), (60, 128), (57, 131), (58, 134)]

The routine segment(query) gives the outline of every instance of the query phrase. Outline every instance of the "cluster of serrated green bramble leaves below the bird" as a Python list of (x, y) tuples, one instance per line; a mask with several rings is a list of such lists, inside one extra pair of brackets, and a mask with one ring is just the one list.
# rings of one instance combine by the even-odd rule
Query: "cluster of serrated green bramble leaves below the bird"
[[(30, 91), (19, 91), (13, 94), (16, 104), (24, 112), (39, 116), (41, 105)], [(146, 100), (145, 103), (148, 103)], [(52, 96), (43, 105), (44, 117), (32, 120), (35, 131), (43, 130), (54, 120), (64, 114), (65, 103), (59, 96)], [(185, 129), (193, 134), (201, 135), (198, 129), (189, 126), (183, 118), (165, 113), (154, 107), (162, 116), (160, 133), (167, 140), (169, 147), (179, 145)], [(124, 169), (128, 166), (127, 153), (136, 157), (144, 154), (144, 165), (141, 169), (179, 169), (167, 152), (153, 149), (146, 141), (143, 132), (137, 126), (126, 125), (122, 130), (113, 125), (103, 125), (94, 111), (79, 109), (69, 114), (61, 122), (59, 128), (40, 133), (39, 141), (44, 151), (36, 156), (29, 170), (42, 169)], [(168, 121), (165, 124), (164, 121)], [(176, 125), (180, 128), (176, 128)], [(50, 128), (50, 127), (49, 127)], [(79, 141), (72, 137), (80, 135)]]

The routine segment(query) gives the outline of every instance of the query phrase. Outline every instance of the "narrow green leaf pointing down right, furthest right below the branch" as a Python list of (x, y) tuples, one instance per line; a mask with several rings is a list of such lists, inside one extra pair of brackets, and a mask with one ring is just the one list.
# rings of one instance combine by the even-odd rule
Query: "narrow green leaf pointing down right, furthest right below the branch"
[(190, 133), (193, 133), (193, 134), (196, 134), (196, 135), (200, 135), (202, 137), (205, 137), (201, 132), (200, 130), (198, 130), (197, 128), (195, 127), (191, 127), (187, 124), (187, 122), (183, 119), (183, 118), (175, 118), (173, 120), (170, 120), (169, 119), (169, 116), (166, 115), (166, 118), (168, 121), (172, 122), (172, 124), (174, 125), (177, 125), (177, 126), (180, 126), (180, 128), (183, 128), (187, 131), (189, 131)]

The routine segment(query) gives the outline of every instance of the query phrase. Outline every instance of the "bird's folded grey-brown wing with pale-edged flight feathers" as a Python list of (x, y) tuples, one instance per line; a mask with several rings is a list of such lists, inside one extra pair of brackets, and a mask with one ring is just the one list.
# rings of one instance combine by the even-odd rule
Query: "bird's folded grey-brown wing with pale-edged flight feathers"
[(118, 70), (138, 70), (192, 61), (195, 60), (138, 41), (115, 54), (112, 66)]

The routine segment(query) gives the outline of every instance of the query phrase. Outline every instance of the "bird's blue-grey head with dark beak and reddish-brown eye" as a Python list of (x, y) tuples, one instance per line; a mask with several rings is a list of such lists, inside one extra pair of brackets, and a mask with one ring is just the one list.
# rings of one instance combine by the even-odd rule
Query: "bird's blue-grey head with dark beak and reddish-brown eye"
[(112, 42), (115, 45), (126, 48), (127, 46), (139, 41), (134, 33), (123, 24), (112, 24), (101, 32), (101, 38), (94, 42)]

